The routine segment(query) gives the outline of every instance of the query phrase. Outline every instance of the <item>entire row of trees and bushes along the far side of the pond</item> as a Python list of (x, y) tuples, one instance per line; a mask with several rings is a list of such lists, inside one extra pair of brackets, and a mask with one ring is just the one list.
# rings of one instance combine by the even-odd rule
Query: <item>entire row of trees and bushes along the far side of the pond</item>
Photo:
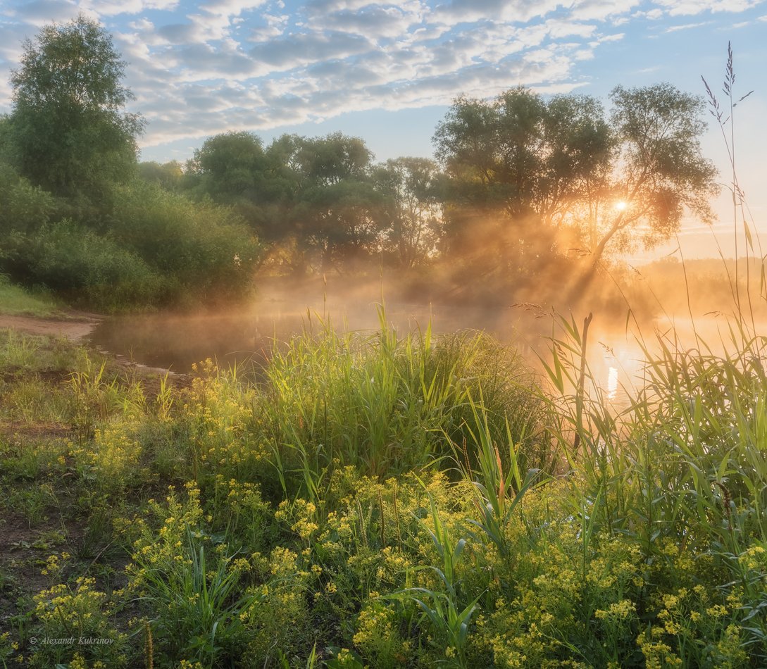
[[(69, 295), (162, 304), (242, 295), (254, 272), (449, 268), (583, 288), (685, 212), (712, 219), (703, 101), (670, 84), (545, 98), (459, 97), (435, 160), (377, 163), (358, 137), (209, 137), (186, 163), (139, 163), (125, 63), (80, 16), (25, 42), (0, 118), (0, 271)], [(87, 252), (78, 250), (87, 247)], [(120, 291), (118, 290), (119, 294)]]

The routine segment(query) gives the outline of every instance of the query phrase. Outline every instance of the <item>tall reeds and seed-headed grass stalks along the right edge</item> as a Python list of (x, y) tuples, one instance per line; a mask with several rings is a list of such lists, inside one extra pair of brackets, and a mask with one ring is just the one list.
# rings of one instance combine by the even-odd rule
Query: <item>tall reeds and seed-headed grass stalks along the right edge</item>
[[(708, 84), (706, 90), (728, 144), (735, 235), (742, 230), (748, 254), (757, 248), (756, 238), (746, 222), (731, 133), (732, 110), (748, 95), (735, 101), (734, 81), (729, 49), (726, 110)], [(764, 277), (764, 259), (747, 255), (746, 262), (747, 276), (755, 263)], [(692, 312), (692, 341), (683, 341), (673, 327), (652, 336), (637, 333), (643, 382), (621, 412), (605, 400), (586, 364), (588, 321), (581, 329), (572, 319), (559, 320), (561, 334), (552, 337), (544, 367), (551, 385), (548, 424), (571, 470), (571, 508), (581, 525), (584, 555), (588, 542), (604, 537), (632, 542), (648, 574), (653, 565), (670, 563), (663, 578), (679, 592), (686, 592), (689, 575), (670, 561), (669, 546), (676, 555), (707, 561), (712, 566), (706, 588), (731, 598), (739, 593), (739, 647), (761, 666), (767, 662), (767, 595), (754, 556), (767, 546), (767, 337), (759, 334), (767, 302), (763, 281), (759, 291), (748, 282), (744, 291), (741, 269), (736, 264), (730, 276), (732, 315), (717, 338), (696, 328)], [(648, 616), (653, 602), (642, 599), (638, 605)], [(676, 628), (667, 625), (666, 638), (669, 629)], [(679, 634), (674, 650), (683, 665), (698, 666), (700, 648), (685, 648), (683, 631), (672, 634)]]

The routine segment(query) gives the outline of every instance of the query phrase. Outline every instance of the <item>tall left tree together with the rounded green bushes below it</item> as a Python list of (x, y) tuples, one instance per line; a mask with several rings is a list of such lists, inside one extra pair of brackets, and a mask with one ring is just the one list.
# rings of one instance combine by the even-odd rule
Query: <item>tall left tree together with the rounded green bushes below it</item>
[(123, 67), (82, 15), (25, 43), (0, 123), (2, 159), (23, 175), (0, 162), (0, 271), (102, 311), (249, 294), (260, 249), (241, 219), (170, 192), (178, 164), (131, 180), (142, 123), (122, 112)]

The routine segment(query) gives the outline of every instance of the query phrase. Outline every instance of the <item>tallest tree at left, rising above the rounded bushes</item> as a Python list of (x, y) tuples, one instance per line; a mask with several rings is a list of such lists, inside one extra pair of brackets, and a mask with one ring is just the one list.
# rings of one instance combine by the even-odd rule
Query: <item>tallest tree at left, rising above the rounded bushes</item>
[(33, 183), (62, 196), (104, 196), (136, 163), (137, 114), (123, 87), (125, 63), (110, 35), (84, 15), (47, 25), (24, 43), (13, 71), (15, 162)]

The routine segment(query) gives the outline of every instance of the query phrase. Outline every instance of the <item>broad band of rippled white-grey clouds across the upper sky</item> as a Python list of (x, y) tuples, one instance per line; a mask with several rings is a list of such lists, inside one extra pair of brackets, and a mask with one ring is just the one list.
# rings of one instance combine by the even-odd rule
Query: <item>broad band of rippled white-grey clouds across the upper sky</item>
[(662, 35), (669, 16), (741, 12), (758, 4), (304, 0), (288, 10), (281, 0), (5, 2), (14, 4), (0, 8), (0, 109), (10, 103), (5, 81), (21, 39), (52, 19), (85, 11), (105, 21), (129, 62), (133, 108), (149, 122), (145, 145), (355, 110), (444, 105), (462, 92), (489, 97), (517, 84), (572, 91), (588, 81), (588, 61), (600, 62), (604, 44), (627, 41), (636, 25), (657, 21), (653, 33)]

